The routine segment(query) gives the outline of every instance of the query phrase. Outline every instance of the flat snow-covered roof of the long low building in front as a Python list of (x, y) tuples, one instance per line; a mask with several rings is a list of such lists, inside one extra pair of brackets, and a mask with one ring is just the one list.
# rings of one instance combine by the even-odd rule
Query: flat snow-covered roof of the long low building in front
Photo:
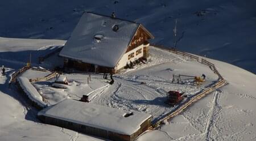
[(126, 110), (109, 108), (92, 103), (66, 99), (56, 105), (41, 110), (38, 116), (46, 116), (81, 125), (96, 127), (123, 135), (131, 135), (140, 129), (141, 123), (151, 117), (150, 114), (133, 112), (123, 117)]

